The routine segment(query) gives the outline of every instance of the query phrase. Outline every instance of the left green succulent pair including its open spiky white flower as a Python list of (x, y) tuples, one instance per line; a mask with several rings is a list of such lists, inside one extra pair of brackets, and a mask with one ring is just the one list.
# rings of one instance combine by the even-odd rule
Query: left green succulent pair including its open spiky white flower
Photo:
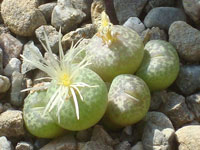
[[(61, 31), (59, 37), (61, 38)], [(46, 72), (49, 76), (47, 78), (51, 79), (50, 83), (24, 90), (33, 91), (24, 104), (24, 119), (28, 130), (36, 136), (48, 137), (46, 132), (49, 135), (58, 133), (57, 129), (50, 128), (54, 124), (73, 131), (91, 127), (102, 118), (107, 108), (108, 92), (105, 83), (95, 72), (85, 68), (88, 65), (87, 58), (77, 64), (71, 63), (76, 57), (75, 47), (64, 55), (59, 38), (59, 58), (55, 58), (46, 34), (45, 38), (47, 46), (42, 45), (51, 59), (46, 60), (34, 51), (31, 51), (32, 60), (22, 56), (24, 61)], [(39, 102), (34, 105), (36, 99)], [(44, 122), (45, 126), (40, 122)]]

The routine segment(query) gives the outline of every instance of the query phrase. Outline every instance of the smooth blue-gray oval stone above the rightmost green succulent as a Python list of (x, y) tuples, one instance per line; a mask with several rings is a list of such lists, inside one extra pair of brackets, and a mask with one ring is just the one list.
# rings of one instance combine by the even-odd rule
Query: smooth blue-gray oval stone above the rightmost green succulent
[(146, 15), (144, 24), (148, 28), (159, 27), (160, 29), (168, 30), (170, 25), (175, 21), (186, 21), (186, 15), (181, 9), (157, 7)]

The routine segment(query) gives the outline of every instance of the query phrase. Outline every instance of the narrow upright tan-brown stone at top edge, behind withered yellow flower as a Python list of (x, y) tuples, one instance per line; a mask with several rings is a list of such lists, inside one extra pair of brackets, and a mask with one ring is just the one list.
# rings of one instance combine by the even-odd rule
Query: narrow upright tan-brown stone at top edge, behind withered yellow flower
[(94, 0), (91, 5), (91, 19), (92, 24), (99, 27), (101, 25), (101, 13), (106, 10), (104, 0)]

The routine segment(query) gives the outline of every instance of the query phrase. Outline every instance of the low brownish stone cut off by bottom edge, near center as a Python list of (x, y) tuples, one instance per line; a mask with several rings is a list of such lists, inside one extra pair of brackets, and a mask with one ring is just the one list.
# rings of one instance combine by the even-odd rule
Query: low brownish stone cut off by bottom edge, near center
[(98, 141), (89, 141), (80, 150), (113, 150), (113, 148)]

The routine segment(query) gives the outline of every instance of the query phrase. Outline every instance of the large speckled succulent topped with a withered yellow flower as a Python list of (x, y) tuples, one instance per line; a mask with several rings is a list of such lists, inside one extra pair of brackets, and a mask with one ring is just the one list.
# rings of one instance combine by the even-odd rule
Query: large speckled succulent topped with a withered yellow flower
[(85, 55), (90, 59), (88, 67), (111, 82), (119, 74), (136, 72), (143, 59), (143, 48), (135, 31), (111, 24), (103, 12), (101, 26), (85, 47)]

